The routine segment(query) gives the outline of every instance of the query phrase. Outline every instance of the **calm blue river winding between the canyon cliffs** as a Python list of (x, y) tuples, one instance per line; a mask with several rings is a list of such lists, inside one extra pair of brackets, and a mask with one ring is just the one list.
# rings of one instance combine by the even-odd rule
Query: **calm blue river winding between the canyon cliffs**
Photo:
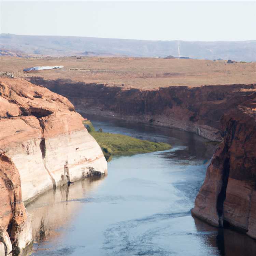
[(256, 255), (255, 240), (191, 216), (215, 146), (193, 133), (88, 119), (96, 130), (173, 147), (114, 157), (106, 177), (49, 191), (28, 205), (32, 255)]

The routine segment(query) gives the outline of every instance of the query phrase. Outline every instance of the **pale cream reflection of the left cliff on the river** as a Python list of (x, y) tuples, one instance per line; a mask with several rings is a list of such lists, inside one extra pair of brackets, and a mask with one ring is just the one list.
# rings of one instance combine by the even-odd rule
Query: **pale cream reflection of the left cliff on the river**
[(95, 191), (104, 177), (92, 177), (50, 190), (26, 205), (32, 219), (34, 249), (48, 239), (58, 238), (68, 229), (76, 217), (83, 198), (89, 191)]

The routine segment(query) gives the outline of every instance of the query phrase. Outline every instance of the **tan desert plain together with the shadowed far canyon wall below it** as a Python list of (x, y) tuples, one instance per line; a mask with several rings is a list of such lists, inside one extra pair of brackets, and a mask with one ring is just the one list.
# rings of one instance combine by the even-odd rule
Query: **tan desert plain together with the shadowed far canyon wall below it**
[[(79, 113), (173, 127), (217, 141), (222, 115), (256, 91), (256, 63), (6, 56), (0, 61), (0, 71), (67, 97)], [(23, 71), (55, 65), (64, 68)]]

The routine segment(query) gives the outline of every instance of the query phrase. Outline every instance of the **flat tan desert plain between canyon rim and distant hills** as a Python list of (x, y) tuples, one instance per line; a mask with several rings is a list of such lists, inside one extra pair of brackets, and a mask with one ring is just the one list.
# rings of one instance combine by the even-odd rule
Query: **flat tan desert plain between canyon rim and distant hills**
[[(46, 80), (102, 83), (124, 89), (156, 89), (169, 86), (252, 84), (256, 82), (256, 62), (134, 57), (0, 57), (1, 70), (16, 76), (40, 76)], [(23, 72), (26, 67), (64, 66), (63, 69)]]

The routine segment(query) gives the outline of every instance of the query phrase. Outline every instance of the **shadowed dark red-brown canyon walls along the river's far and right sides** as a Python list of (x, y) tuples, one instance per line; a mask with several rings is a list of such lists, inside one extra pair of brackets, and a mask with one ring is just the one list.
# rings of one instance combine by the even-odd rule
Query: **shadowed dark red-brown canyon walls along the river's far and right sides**
[(80, 113), (176, 128), (220, 142), (192, 214), (256, 238), (256, 84), (123, 90), (39, 77), (30, 81), (65, 95)]

